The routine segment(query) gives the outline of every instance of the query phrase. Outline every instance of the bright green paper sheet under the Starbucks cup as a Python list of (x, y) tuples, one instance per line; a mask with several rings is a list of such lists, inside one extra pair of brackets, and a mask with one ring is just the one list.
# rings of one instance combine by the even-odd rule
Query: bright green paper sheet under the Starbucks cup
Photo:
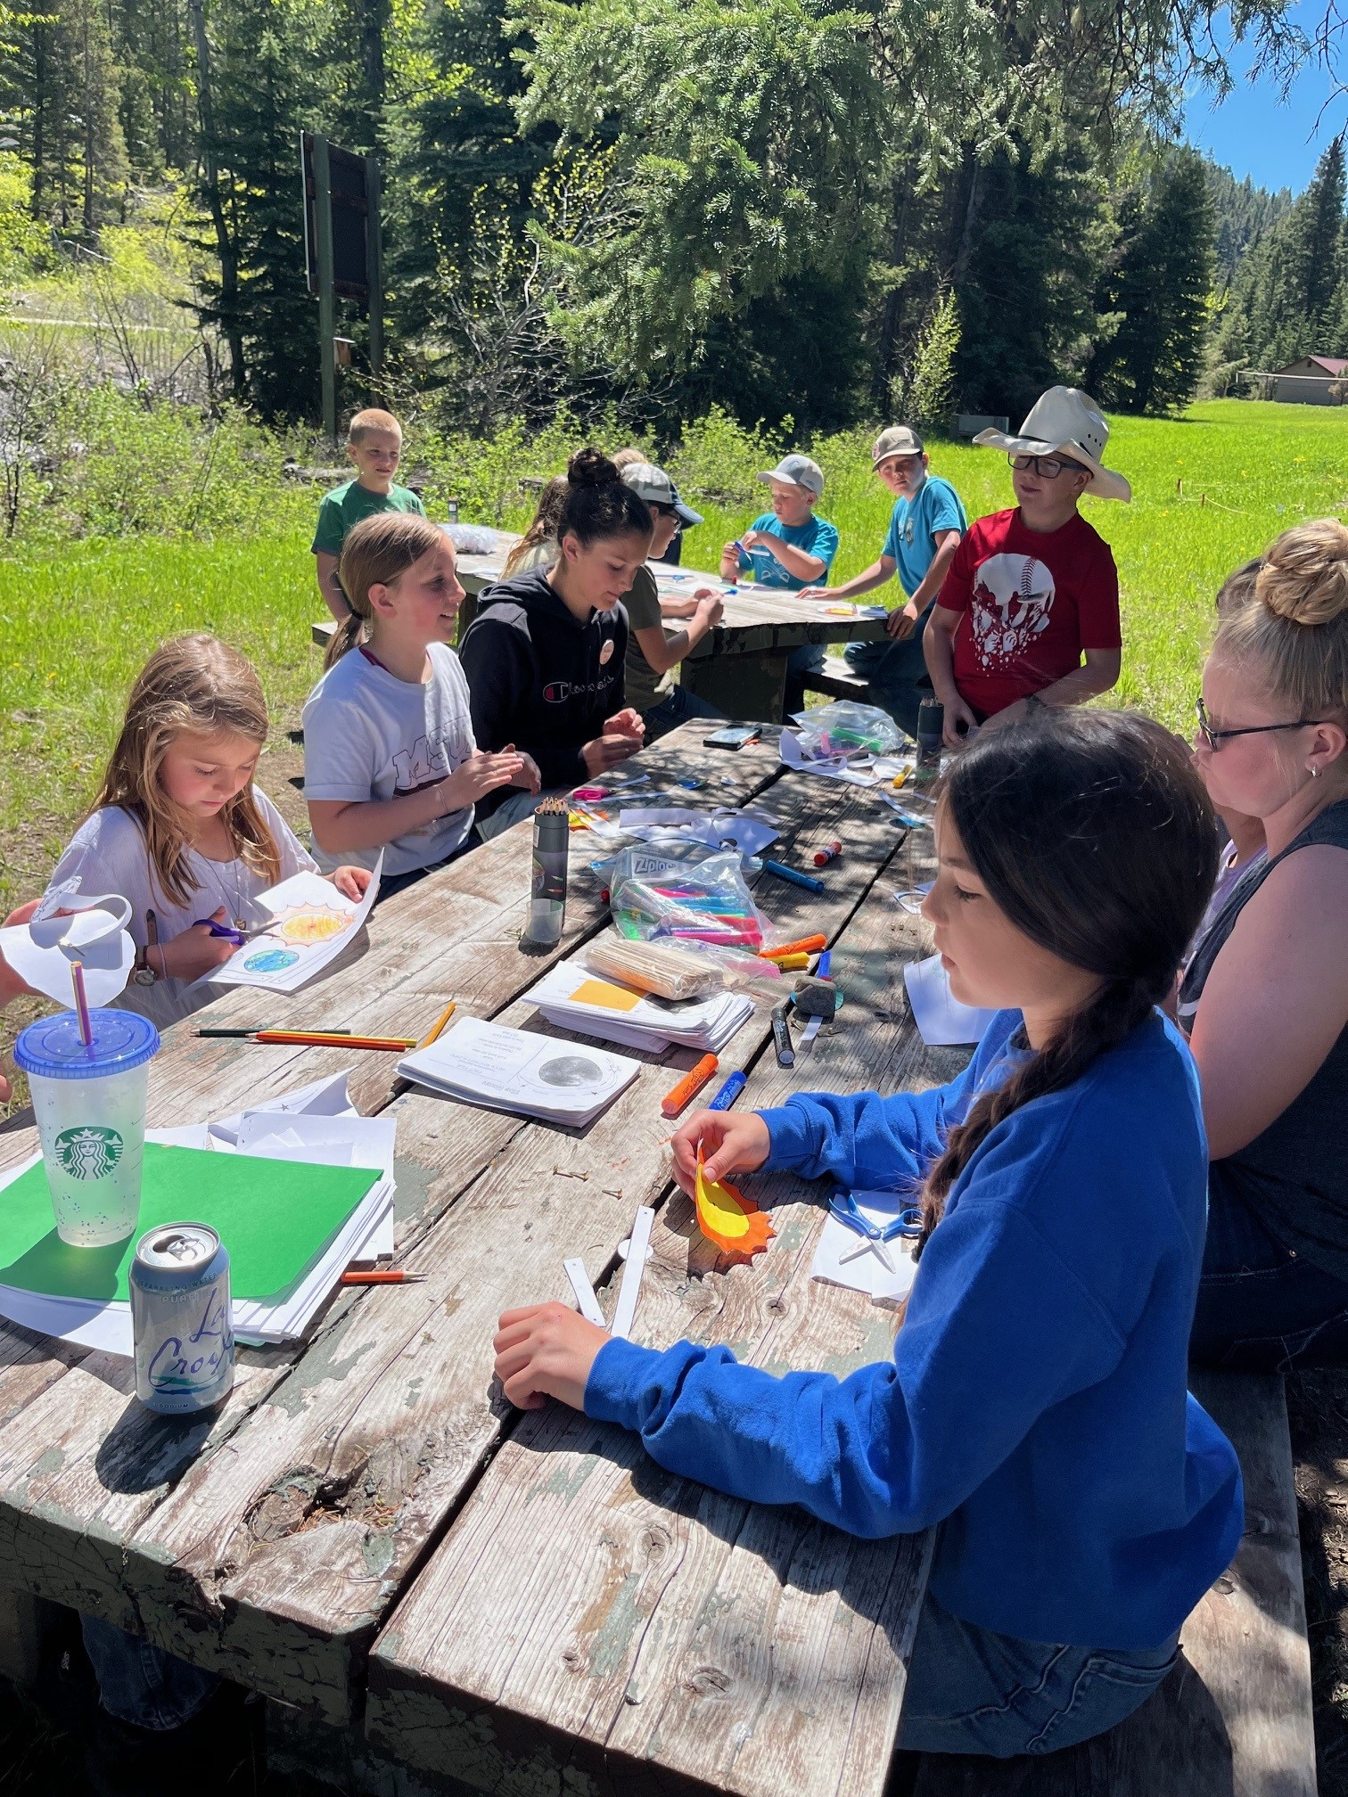
[(0, 1285), (93, 1303), (129, 1299), (135, 1247), (160, 1224), (210, 1224), (230, 1251), (230, 1294), (270, 1299), (295, 1285), (383, 1175), (255, 1154), (146, 1143), (140, 1217), (108, 1247), (70, 1247), (56, 1233), (47, 1168), (0, 1190)]

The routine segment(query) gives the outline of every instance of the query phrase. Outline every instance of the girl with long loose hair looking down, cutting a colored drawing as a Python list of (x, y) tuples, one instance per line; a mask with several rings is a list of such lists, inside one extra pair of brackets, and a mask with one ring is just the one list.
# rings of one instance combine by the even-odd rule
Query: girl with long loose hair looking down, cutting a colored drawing
[[(316, 872), (253, 785), (266, 735), (262, 683), (237, 649), (214, 636), (165, 643), (131, 688), (95, 809), (47, 888), (77, 877), (83, 893), (131, 904), (137, 961), (117, 1003), (160, 1026), (214, 997), (189, 990), (235, 952), (212, 924), (253, 929), (266, 922), (259, 893)], [(356, 866), (331, 879), (347, 898), (370, 884)]]

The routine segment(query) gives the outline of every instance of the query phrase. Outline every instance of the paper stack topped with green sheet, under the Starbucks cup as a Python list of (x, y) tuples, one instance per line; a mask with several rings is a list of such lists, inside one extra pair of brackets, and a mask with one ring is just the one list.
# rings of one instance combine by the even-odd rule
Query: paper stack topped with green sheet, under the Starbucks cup
[(392, 1253), (394, 1134), (392, 1116), (356, 1116), (345, 1075), (217, 1125), (147, 1130), (140, 1218), (106, 1249), (59, 1240), (32, 1155), (0, 1181), (0, 1315), (129, 1355), (137, 1242), (158, 1224), (203, 1222), (230, 1251), (234, 1333), (293, 1341), (352, 1260)]

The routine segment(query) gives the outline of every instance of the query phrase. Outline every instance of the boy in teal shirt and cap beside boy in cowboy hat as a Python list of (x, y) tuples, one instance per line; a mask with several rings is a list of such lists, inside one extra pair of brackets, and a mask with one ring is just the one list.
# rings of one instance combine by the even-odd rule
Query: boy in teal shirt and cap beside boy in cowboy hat
[(870, 681), (874, 703), (884, 706), (899, 728), (915, 737), (917, 708), (931, 695), (922, 634), (969, 519), (949, 480), (929, 473), (931, 456), (917, 431), (906, 424), (891, 424), (881, 431), (872, 464), (895, 496), (890, 534), (879, 559), (841, 586), (805, 591), (809, 598), (854, 598), (899, 575), (908, 604), (890, 613), (890, 640), (848, 643), (843, 654)]

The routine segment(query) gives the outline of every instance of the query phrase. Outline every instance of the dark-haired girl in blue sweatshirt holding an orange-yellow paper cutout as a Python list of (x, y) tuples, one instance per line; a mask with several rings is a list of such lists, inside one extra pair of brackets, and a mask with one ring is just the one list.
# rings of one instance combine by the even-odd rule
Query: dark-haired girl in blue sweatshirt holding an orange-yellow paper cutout
[(938, 1091), (690, 1118), (714, 1179), (789, 1168), (920, 1195), (893, 1360), (850, 1378), (663, 1353), (509, 1312), (507, 1396), (638, 1430), (661, 1466), (856, 1535), (940, 1524), (900, 1745), (1048, 1752), (1131, 1714), (1240, 1540), (1237, 1457), (1186, 1393), (1208, 1146), (1159, 1015), (1217, 870), (1190, 757), (1060, 710), (956, 760), (924, 911), (951, 990), (998, 1010)]

